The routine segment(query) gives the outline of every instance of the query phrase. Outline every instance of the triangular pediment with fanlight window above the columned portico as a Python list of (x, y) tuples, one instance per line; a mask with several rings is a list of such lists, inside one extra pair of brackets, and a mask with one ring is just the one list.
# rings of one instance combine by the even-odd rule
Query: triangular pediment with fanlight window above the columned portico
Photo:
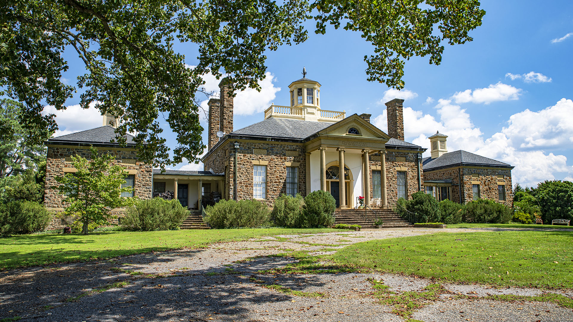
[[(349, 133), (349, 130), (354, 128), (358, 134)], [(354, 131), (350, 131), (354, 132)], [(375, 127), (370, 122), (364, 120), (357, 114), (346, 117), (346, 119), (338, 121), (327, 128), (319, 131), (319, 135), (336, 135), (347, 136), (351, 138), (368, 138), (368, 139), (384, 139), (389, 140), (390, 136), (384, 133), (381, 129)]]

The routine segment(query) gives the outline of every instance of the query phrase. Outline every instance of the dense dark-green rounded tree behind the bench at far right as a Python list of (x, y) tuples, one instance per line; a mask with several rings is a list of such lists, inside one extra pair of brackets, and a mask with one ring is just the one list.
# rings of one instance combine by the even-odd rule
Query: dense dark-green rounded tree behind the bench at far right
[(553, 219), (573, 220), (573, 182), (545, 180), (537, 184), (534, 195), (539, 202), (544, 222)]

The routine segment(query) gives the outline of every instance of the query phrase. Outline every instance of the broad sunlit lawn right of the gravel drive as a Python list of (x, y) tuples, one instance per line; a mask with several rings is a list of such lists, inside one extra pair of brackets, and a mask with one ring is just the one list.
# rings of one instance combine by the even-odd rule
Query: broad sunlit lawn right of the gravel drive
[(361, 242), (332, 255), (344, 264), (458, 283), (573, 288), (573, 233), (439, 233)]

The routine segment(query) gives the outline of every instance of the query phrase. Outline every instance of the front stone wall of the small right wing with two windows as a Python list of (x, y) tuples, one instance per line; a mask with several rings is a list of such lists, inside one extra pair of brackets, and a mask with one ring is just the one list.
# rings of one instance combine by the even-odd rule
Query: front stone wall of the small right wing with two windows
[[(480, 197), (490, 199), (504, 205), (513, 204), (513, 189), (511, 182), (511, 170), (503, 168), (462, 168), (462, 192), (464, 202), (473, 200), (472, 181), (480, 182)], [(473, 175), (473, 176), (472, 176)], [(499, 177), (498, 177), (499, 176)], [(497, 183), (505, 183), (505, 201), (499, 201)]]

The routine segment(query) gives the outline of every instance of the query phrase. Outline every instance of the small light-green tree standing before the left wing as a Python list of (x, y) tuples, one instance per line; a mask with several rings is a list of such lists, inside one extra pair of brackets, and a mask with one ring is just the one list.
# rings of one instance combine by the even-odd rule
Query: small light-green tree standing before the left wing
[(57, 176), (60, 186), (53, 187), (67, 195), (66, 214), (77, 215), (83, 224), (82, 233), (88, 234), (90, 223), (103, 225), (114, 218), (110, 211), (115, 208), (132, 205), (133, 198), (121, 197), (121, 193), (131, 192), (131, 187), (121, 187), (128, 175), (125, 169), (117, 164), (112, 165), (113, 156), (98, 155), (96, 148), (91, 149), (91, 160), (72, 155), (72, 166), (75, 173)]

